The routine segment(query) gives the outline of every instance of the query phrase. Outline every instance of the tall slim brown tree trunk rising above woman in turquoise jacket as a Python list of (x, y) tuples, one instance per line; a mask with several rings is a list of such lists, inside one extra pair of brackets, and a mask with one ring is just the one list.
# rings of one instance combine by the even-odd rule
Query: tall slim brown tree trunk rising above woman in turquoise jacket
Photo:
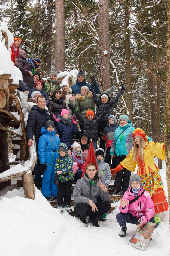
[(133, 125), (133, 109), (132, 109), (132, 85), (130, 71), (130, 35), (129, 35), (129, 8), (125, 5), (125, 65), (126, 65), (126, 91), (127, 91), (127, 110), (129, 111), (129, 120)]

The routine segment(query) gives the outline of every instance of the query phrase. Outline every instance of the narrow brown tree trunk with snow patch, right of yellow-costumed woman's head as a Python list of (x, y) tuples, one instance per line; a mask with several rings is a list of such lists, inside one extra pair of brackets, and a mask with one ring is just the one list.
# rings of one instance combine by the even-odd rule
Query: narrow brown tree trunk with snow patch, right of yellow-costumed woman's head
[(156, 85), (155, 85), (155, 78), (153, 74), (151, 72), (149, 72), (148, 74), (149, 74), (149, 88), (150, 88), (152, 138), (154, 142), (157, 142), (158, 132), (157, 132)]

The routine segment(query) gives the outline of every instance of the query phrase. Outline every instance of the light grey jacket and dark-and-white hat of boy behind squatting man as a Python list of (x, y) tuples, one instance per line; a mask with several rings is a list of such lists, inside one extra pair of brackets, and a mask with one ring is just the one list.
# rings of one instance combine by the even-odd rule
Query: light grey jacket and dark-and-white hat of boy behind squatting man
[[(103, 149), (99, 148), (99, 149), (96, 149), (95, 154), (98, 150), (102, 150), (104, 152)], [(104, 157), (105, 157), (105, 152), (104, 152)], [(112, 177), (110, 166), (109, 166), (109, 164), (104, 162), (104, 158), (102, 160), (96, 159), (96, 162), (97, 162), (97, 166), (98, 166), (98, 173), (102, 174), (102, 176), (101, 176), (102, 184), (104, 184), (104, 185), (106, 185), (106, 187), (108, 187), (108, 185), (111, 182), (111, 177)]]

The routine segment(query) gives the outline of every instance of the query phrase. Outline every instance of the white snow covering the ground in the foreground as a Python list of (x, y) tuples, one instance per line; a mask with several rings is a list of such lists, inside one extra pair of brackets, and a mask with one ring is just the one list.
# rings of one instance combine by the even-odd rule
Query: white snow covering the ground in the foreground
[[(165, 162), (160, 170), (167, 194)], [(118, 208), (107, 215), (107, 222), (99, 222), (100, 228), (83, 227), (83, 223), (67, 212), (50, 206), (40, 190), (35, 188), (35, 200), (25, 199), (23, 188), (16, 187), (16, 179), (10, 187), (0, 191), (0, 241), (2, 256), (148, 256), (169, 255), (169, 213), (162, 214), (162, 221), (154, 230), (152, 241), (145, 251), (130, 247), (127, 241), (136, 226), (127, 224), (127, 235), (119, 237), (120, 227), (115, 215)], [(13, 190), (12, 190), (13, 189)]]

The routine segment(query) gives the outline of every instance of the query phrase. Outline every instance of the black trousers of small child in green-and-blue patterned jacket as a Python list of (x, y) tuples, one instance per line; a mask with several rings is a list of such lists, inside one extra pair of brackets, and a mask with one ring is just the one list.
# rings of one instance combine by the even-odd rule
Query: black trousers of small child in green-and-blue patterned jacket
[(64, 206), (70, 206), (71, 200), (71, 187), (72, 181), (59, 181), (58, 192), (57, 192), (57, 205), (63, 204), (64, 197)]

